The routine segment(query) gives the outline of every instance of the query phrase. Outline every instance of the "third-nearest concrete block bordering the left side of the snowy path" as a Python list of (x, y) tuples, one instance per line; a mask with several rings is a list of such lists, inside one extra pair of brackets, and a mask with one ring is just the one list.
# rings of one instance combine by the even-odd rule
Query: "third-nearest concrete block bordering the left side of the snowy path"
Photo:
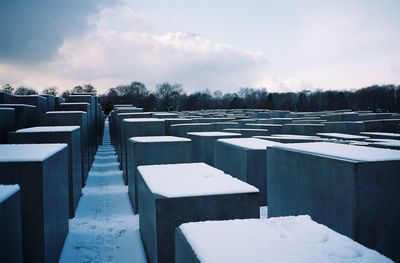
[(82, 186), (86, 184), (86, 179), (90, 170), (89, 144), (87, 130), (87, 113), (83, 111), (50, 111), (44, 114), (40, 121), (41, 126), (79, 126), (81, 138), (81, 157), (82, 157)]

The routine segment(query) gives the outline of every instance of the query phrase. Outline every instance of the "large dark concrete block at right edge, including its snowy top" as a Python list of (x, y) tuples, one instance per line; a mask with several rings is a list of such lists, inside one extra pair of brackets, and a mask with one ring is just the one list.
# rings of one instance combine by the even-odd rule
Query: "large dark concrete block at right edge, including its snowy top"
[(344, 144), (274, 146), (268, 216), (313, 220), (400, 260), (400, 152)]

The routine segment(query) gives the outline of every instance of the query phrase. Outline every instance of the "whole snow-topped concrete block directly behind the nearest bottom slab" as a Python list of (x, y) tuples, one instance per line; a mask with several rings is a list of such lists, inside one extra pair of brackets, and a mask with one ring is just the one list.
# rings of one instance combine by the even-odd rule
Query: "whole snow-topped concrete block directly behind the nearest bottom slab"
[(182, 223), (259, 218), (258, 190), (204, 163), (139, 166), (140, 234), (150, 262), (174, 262)]

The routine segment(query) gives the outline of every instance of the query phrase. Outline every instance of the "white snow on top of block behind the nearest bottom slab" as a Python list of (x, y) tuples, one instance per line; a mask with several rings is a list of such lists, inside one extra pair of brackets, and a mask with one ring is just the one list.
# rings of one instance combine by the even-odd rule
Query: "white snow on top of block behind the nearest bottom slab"
[(167, 198), (258, 192), (205, 163), (146, 165), (138, 170), (152, 193)]

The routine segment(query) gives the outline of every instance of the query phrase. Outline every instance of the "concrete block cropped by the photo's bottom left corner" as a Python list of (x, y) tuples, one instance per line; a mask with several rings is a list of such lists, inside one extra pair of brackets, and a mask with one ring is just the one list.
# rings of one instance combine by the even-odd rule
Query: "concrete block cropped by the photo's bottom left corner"
[(18, 185), (0, 184), (0, 262), (21, 263), (21, 193)]

